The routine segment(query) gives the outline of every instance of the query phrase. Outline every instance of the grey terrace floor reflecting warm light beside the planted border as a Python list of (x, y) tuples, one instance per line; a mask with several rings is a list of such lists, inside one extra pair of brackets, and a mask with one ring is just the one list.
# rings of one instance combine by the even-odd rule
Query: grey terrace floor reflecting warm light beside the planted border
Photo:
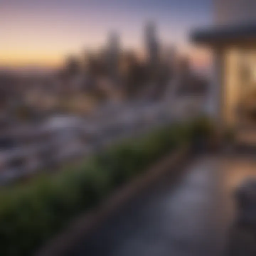
[(256, 158), (201, 156), (128, 203), (69, 256), (216, 256), (234, 218), (233, 191)]

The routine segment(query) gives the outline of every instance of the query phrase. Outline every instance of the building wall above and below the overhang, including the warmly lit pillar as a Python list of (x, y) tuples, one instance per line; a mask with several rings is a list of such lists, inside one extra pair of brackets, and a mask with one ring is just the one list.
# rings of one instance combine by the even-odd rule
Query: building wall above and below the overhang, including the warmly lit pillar
[[(256, 23), (256, 0), (213, 0), (214, 25), (241, 26)], [(241, 46), (241, 49), (245, 46)], [(238, 123), (238, 101), (241, 94), (238, 49), (215, 49), (213, 80), (209, 95), (209, 113), (220, 118), (224, 126)]]

